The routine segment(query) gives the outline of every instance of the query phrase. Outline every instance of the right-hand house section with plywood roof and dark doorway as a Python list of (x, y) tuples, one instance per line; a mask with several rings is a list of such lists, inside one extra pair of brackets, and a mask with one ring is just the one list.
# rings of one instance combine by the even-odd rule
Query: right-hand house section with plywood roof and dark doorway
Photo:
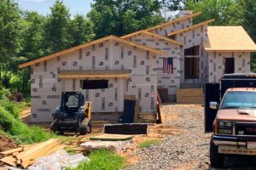
[(219, 82), (224, 74), (250, 72), (250, 53), (255, 43), (241, 26), (208, 26), (202, 42), (207, 65), (206, 82)]

